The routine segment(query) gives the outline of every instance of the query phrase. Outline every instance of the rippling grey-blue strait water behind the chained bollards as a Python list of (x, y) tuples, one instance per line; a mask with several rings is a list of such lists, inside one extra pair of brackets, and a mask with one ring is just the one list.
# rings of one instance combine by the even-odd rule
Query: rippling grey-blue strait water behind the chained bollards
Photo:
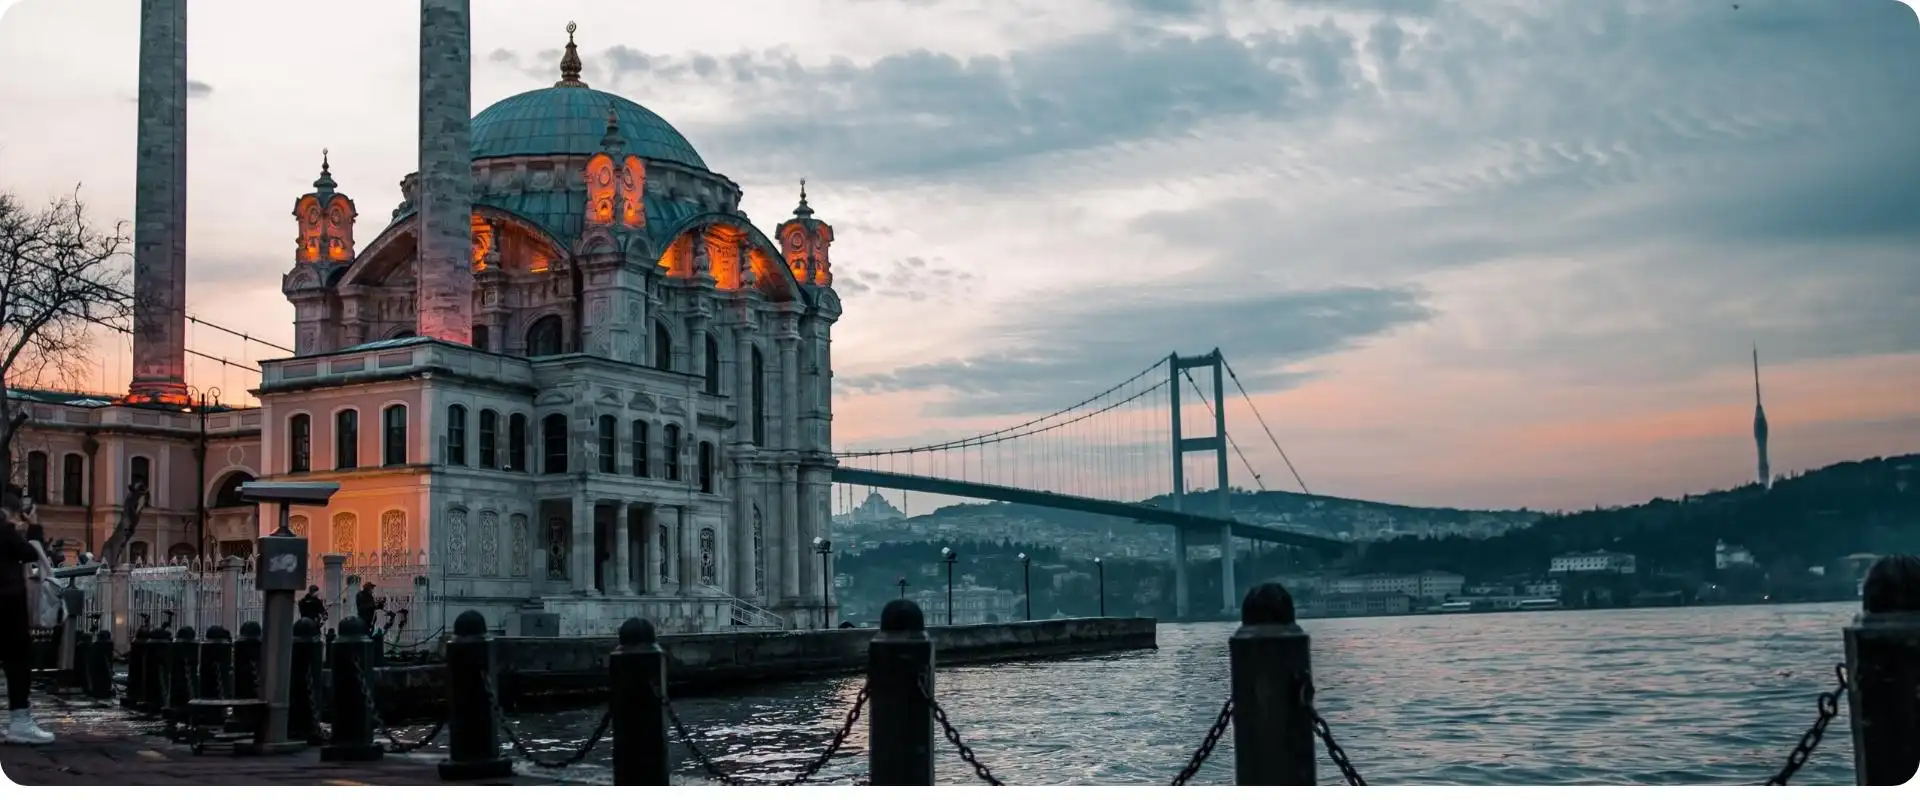
[[(1377, 785), (1759, 783), (1814, 721), (1857, 604), (1308, 620), (1321, 714)], [(939, 698), (1010, 785), (1164, 785), (1227, 698), (1231, 624), (1160, 625), (1160, 650), (941, 670)], [(826, 748), (860, 677), (674, 706), (728, 771), (791, 775)], [(1851, 785), (1845, 710), (1795, 785)], [(601, 710), (516, 718), (543, 758)], [(407, 729), (403, 737), (422, 729)], [(937, 742), (939, 783), (970, 783)], [(568, 775), (607, 781), (599, 750)], [(676, 741), (680, 773), (699, 765)], [(866, 721), (822, 777), (866, 773)], [(1325, 754), (1321, 783), (1340, 783)], [(1233, 735), (1194, 777), (1233, 783)]]

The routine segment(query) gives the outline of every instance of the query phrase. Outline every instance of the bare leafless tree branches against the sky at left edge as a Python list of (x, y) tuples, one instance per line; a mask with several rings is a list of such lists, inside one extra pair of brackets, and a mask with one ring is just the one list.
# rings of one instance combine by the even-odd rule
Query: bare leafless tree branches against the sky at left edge
[(0, 476), (15, 480), (13, 437), (27, 420), (15, 388), (86, 374), (92, 326), (127, 330), (127, 223), (86, 219), (79, 188), (29, 209), (0, 194)]

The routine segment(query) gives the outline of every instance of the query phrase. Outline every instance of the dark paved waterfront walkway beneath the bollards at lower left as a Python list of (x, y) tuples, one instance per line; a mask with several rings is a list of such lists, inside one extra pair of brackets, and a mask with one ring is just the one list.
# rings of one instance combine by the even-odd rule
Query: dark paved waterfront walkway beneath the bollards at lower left
[[(159, 723), (92, 700), (35, 693), (46, 746), (0, 744), (0, 771), (23, 787), (440, 787), (432, 760), (388, 756), (378, 762), (321, 762), (319, 748), (286, 756), (194, 756), (159, 735)], [(478, 785), (557, 785), (515, 775)]]

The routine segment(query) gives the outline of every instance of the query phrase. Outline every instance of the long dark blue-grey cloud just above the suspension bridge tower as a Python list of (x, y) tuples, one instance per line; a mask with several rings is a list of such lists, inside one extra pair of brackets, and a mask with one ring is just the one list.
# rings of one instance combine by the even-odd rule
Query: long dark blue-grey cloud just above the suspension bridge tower
[(975, 353), (835, 376), (843, 391), (947, 389), (939, 416), (1046, 412), (1112, 388), (1169, 351), (1229, 353), (1248, 391), (1294, 386), (1300, 361), (1430, 318), (1417, 290), (1342, 286), (1235, 292), (1146, 286), (1089, 292), (1073, 307), (1029, 303), (972, 341)]

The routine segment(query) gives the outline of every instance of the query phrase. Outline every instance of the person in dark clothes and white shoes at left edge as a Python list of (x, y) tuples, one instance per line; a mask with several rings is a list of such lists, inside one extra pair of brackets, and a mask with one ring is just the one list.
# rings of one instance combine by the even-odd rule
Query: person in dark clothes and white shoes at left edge
[(33, 618), (27, 612), (27, 564), (40, 560), (42, 539), (33, 505), (8, 485), (0, 495), (0, 660), (6, 660), (8, 744), (52, 744), (54, 735), (33, 721), (27, 691), (33, 687)]

